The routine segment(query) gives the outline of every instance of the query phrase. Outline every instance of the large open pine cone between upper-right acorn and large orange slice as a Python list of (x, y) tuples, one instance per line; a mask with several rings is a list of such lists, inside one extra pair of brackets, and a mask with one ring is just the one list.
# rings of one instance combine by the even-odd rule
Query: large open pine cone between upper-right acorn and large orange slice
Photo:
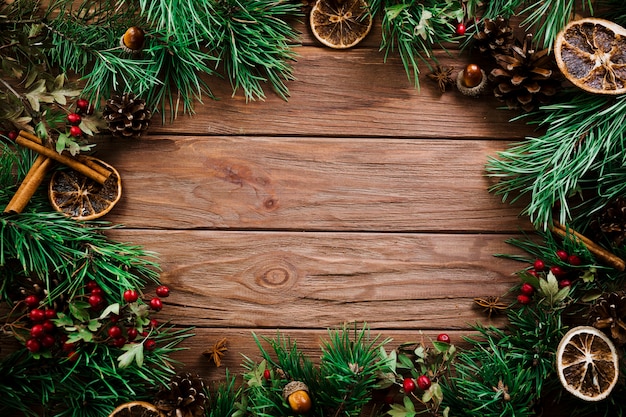
[(547, 103), (560, 85), (553, 78), (558, 72), (552, 71), (554, 60), (548, 50), (535, 52), (531, 42), (532, 35), (527, 35), (521, 47), (511, 45), (509, 54), (494, 56), (499, 67), (491, 71), (489, 80), (496, 83), (495, 96), (510, 109), (531, 111)]

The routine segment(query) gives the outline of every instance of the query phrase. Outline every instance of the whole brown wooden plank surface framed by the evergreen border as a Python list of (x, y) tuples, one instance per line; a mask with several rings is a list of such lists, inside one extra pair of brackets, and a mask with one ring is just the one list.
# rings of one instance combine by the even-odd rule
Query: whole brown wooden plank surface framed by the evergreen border
[[(125, 229), (110, 236), (160, 255), (173, 294), (158, 317), (196, 326), (176, 358), (209, 380), (258, 357), (252, 332), (280, 329), (313, 357), (344, 322), (396, 344), (460, 342), (487, 320), (473, 298), (502, 295), (521, 267), (493, 256), (529, 225), (488, 193), (484, 166), (531, 128), (490, 94), (441, 94), (424, 65), (417, 90), (398, 58), (383, 62), (379, 29), (336, 51), (299, 27), (289, 101), (246, 103), (211, 79), (219, 100), (194, 117), (98, 145), (123, 177), (105, 219)], [(457, 70), (478, 59), (436, 56)], [(201, 353), (222, 337), (217, 369)]]

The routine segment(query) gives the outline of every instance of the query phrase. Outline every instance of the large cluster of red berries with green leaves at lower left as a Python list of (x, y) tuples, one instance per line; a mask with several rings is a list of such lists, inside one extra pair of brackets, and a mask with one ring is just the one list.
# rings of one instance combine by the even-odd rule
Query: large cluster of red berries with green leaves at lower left
[[(85, 284), (83, 295), (76, 296), (64, 308), (57, 311), (43, 306), (36, 295), (27, 295), (23, 325), (21, 317), (13, 323), (14, 329), (28, 331), (23, 337), (25, 347), (33, 354), (66, 356), (75, 361), (79, 348), (86, 343), (105, 343), (122, 348), (127, 343), (142, 343), (151, 351), (157, 347), (151, 336), (159, 330), (159, 322), (150, 312), (163, 308), (161, 298), (168, 297), (170, 289), (165, 285), (156, 288), (156, 296), (144, 302), (139, 292), (128, 289), (123, 293), (122, 305), (107, 300), (104, 290), (95, 281)], [(85, 301), (86, 300), (86, 301)]]

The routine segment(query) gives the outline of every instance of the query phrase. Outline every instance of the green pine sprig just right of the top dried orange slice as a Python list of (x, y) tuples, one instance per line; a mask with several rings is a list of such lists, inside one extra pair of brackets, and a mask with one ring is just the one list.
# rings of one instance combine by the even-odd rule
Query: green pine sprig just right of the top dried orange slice
[(380, 50), (385, 51), (385, 61), (397, 52), (416, 87), (419, 87), (419, 63), (431, 68), (430, 61), (436, 62), (433, 46), (444, 48), (444, 43), (454, 42), (453, 23), (462, 21), (464, 15), (460, 3), (435, 0), (375, 0), (371, 8), (372, 14), (383, 14)]

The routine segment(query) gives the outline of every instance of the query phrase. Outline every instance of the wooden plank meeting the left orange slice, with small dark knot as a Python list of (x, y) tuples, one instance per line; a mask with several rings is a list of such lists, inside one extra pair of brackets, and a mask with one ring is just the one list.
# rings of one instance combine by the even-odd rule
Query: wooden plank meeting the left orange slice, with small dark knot
[(132, 228), (528, 228), (489, 194), (492, 141), (163, 137), (98, 145), (122, 175), (107, 220)]

